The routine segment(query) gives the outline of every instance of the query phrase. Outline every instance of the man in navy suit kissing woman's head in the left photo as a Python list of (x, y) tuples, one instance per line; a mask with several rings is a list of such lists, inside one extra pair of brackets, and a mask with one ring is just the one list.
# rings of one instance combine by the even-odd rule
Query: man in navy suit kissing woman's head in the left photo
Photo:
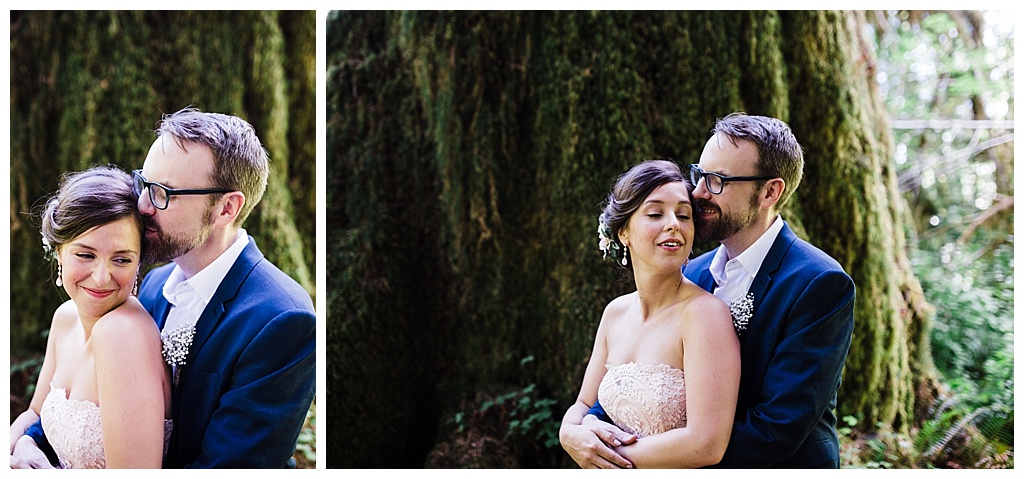
[[(151, 271), (139, 301), (163, 330), (174, 430), (165, 468), (286, 468), (312, 402), (309, 295), (263, 257), (242, 223), (269, 159), (238, 117), (165, 116), (134, 172)], [(38, 423), (27, 433), (45, 450)]]

